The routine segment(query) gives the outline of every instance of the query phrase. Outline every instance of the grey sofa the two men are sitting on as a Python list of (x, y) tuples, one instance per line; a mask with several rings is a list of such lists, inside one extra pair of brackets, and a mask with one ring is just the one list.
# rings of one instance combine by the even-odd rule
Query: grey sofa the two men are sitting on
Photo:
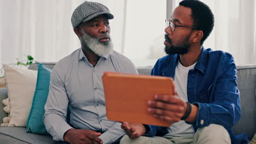
[[(43, 63), (46, 67), (53, 68), (55, 63)], [(37, 70), (37, 64), (32, 64), (29, 69)], [(139, 74), (150, 75), (152, 67), (138, 67)], [(235, 134), (245, 133), (252, 139), (256, 133), (256, 64), (237, 65), (237, 83), (241, 94), (242, 117), (233, 128)], [(7, 98), (7, 89), (0, 88), (0, 101)], [(0, 122), (7, 114), (0, 104)], [(0, 144), (2, 143), (55, 143), (50, 135), (37, 135), (26, 133), (26, 127), (0, 127)]]

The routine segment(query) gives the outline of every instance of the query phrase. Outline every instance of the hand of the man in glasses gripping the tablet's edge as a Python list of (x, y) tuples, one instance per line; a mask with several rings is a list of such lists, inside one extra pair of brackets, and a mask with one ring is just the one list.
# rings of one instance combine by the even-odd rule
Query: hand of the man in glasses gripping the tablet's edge
[(170, 123), (180, 121), (187, 109), (187, 104), (177, 93), (174, 95), (155, 95), (153, 101), (148, 101), (148, 105), (149, 113)]

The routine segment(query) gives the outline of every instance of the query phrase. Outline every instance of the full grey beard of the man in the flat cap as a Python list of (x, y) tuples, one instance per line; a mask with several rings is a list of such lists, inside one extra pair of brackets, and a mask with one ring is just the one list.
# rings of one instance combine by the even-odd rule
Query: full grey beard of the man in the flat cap
[(108, 57), (109, 55), (111, 55), (111, 53), (113, 52), (113, 43), (112, 40), (109, 37), (109, 34), (103, 34), (101, 35), (101, 37), (103, 36), (108, 36), (109, 37), (109, 41), (106, 42), (100, 42), (100, 38), (92, 38), (90, 35), (88, 35), (84, 29), (82, 29), (82, 39), (84, 44), (86, 44), (89, 49), (91, 51), (93, 51), (96, 55), (101, 56), (101, 57)]

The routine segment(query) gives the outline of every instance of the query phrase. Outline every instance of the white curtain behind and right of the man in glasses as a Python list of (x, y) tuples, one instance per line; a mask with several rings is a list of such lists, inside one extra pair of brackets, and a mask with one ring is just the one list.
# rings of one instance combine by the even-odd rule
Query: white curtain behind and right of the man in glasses
[[(213, 11), (215, 26), (205, 48), (223, 50), (236, 64), (256, 63), (256, 3), (254, 0), (201, 0)], [(180, 0), (175, 1), (179, 5)]]

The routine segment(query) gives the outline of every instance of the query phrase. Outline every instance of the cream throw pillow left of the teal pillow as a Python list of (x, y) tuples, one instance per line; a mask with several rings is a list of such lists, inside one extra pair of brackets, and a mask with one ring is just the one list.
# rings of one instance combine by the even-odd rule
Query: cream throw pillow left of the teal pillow
[(26, 127), (37, 82), (37, 71), (3, 65), (10, 99), (8, 127)]

